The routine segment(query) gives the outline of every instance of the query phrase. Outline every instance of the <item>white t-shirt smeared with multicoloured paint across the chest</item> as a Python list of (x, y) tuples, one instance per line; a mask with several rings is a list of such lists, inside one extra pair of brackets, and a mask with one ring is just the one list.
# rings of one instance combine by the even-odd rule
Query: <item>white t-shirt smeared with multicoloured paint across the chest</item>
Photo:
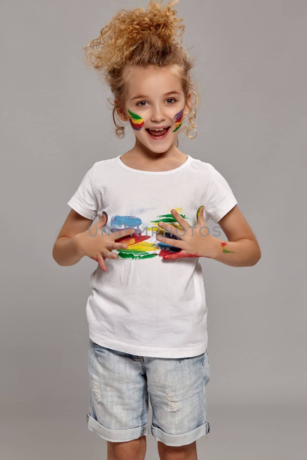
[[(120, 156), (97, 161), (68, 201), (87, 219), (100, 218), (105, 211), (106, 232), (125, 224), (136, 229), (127, 236), (127, 249), (112, 251), (117, 259), (105, 259), (108, 270), (98, 265), (90, 277), (89, 337), (137, 356), (200, 355), (208, 344), (202, 266), (199, 258), (164, 260), (166, 249), (156, 241), (157, 223), (179, 226), (171, 214), (174, 208), (196, 225), (201, 205), (206, 222), (210, 218), (218, 223), (237, 200), (210, 163), (190, 155), (180, 167), (162, 172), (127, 167)], [(138, 240), (132, 244), (135, 235)]]

